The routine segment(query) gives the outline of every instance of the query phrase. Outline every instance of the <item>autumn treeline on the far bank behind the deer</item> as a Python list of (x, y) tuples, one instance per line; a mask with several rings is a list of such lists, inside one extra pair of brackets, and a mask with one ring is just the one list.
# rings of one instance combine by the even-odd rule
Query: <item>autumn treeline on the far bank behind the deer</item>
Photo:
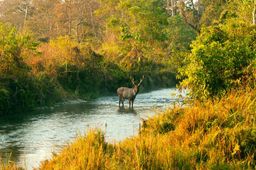
[(145, 75), (144, 89), (174, 86), (175, 50), (196, 34), (165, 1), (8, 0), (0, 9), (0, 113), (113, 93), (130, 76)]

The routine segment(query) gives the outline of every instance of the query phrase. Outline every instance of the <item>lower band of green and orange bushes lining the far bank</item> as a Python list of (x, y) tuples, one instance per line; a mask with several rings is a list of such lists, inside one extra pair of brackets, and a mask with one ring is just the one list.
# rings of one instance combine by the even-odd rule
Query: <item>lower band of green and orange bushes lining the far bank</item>
[(164, 86), (175, 85), (173, 72), (143, 56), (126, 70), (68, 36), (38, 43), (5, 24), (0, 24), (0, 33), (1, 113), (113, 93), (120, 85), (130, 85), (129, 76), (147, 75), (145, 88), (159, 87), (162, 78), (169, 79)]

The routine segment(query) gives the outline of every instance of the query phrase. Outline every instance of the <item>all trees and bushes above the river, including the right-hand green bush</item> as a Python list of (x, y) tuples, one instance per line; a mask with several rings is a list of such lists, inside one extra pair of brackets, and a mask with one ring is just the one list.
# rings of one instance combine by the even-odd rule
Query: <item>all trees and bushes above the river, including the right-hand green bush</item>
[(130, 76), (149, 89), (178, 73), (201, 99), (253, 79), (252, 0), (5, 0), (0, 11), (1, 113), (113, 93)]

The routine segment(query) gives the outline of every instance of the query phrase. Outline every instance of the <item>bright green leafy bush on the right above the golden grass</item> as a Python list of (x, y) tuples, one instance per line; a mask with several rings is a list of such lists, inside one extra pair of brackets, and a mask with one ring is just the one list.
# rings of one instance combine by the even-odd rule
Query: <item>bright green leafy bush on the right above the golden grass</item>
[(189, 87), (194, 97), (219, 96), (239, 85), (256, 59), (255, 27), (235, 22), (204, 28), (192, 43), (180, 76), (181, 85)]

